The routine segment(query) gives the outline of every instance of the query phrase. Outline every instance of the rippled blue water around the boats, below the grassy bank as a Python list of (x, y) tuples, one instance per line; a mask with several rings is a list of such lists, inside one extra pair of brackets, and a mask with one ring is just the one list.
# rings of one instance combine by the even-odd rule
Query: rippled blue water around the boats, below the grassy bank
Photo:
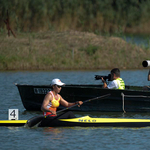
[[(150, 85), (147, 70), (125, 70), (121, 76), (126, 85)], [(94, 76), (108, 75), (109, 71), (53, 71), (53, 72), (1, 72), (0, 73), (0, 119), (8, 119), (8, 109), (19, 109), (19, 119), (29, 119), (41, 112), (26, 111), (22, 105), (18, 84), (50, 84), (60, 78), (66, 84), (100, 84)], [(75, 112), (76, 116), (149, 118), (150, 113), (102, 113)], [(1, 149), (15, 150), (70, 150), (70, 149), (149, 149), (150, 128), (27, 128), (0, 127)]]

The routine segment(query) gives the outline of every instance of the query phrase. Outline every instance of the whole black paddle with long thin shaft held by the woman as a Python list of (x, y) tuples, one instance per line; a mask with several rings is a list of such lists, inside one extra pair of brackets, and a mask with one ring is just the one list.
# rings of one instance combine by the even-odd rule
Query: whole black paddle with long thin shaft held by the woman
[[(85, 100), (83, 103), (86, 103), (86, 102), (90, 102), (90, 101), (93, 101), (93, 100), (96, 100), (96, 99), (103, 99), (103, 98), (106, 98), (106, 97), (108, 97), (108, 96), (110, 96), (111, 94), (106, 94), (106, 95), (102, 95), (102, 96), (99, 96), (99, 97), (95, 97), (95, 98), (92, 98), (92, 99), (88, 99), (88, 100)], [(70, 109), (70, 108), (72, 108), (72, 107), (75, 107), (75, 106), (77, 106), (78, 104), (75, 104), (75, 105), (73, 105), (73, 106), (70, 106), (70, 107), (67, 107), (67, 108), (64, 108), (64, 109), (62, 109), (62, 110), (59, 110), (59, 111), (57, 111), (57, 114), (58, 113), (60, 113), (60, 112), (63, 112), (63, 111), (65, 111), (65, 110), (67, 110), (67, 109)], [(27, 121), (27, 126), (28, 127), (33, 127), (33, 126), (35, 126), (36, 124), (38, 124), (40, 121), (42, 121), (42, 119), (44, 119), (45, 118), (45, 116), (36, 116), (36, 117), (33, 117), (33, 118), (31, 118), (31, 119), (29, 119), (28, 121)]]

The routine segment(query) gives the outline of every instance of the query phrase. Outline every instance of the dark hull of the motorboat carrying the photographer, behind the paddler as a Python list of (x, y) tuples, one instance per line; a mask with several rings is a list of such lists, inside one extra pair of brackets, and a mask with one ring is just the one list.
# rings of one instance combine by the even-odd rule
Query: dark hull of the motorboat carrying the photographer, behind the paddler
[[(18, 87), (22, 103), (26, 110), (39, 111), (43, 99), (51, 87), (48, 85), (19, 85)], [(150, 112), (149, 91), (143, 91), (142, 87), (126, 86), (125, 90), (103, 89), (100, 85), (66, 85), (61, 90), (61, 96), (69, 102), (84, 101), (110, 93), (111, 96), (102, 100), (96, 100), (74, 107), (74, 111), (101, 111), (101, 112)], [(124, 97), (131, 95), (131, 97)], [(134, 95), (135, 97), (132, 97)], [(145, 96), (145, 97), (143, 97)], [(63, 109), (60, 106), (58, 109)]]

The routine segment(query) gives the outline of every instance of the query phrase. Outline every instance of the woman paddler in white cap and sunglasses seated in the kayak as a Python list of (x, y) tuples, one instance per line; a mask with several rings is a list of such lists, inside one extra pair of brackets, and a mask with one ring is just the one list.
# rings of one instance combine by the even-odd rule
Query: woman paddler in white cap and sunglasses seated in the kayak
[(49, 126), (50, 124), (52, 125), (57, 124), (59, 121), (58, 119), (69, 119), (69, 118), (76, 118), (76, 116), (71, 112), (65, 112), (63, 114), (60, 114), (57, 116), (56, 111), (57, 107), (61, 104), (64, 107), (70, 107), (78, 104), (80, 105), (83, 104), (82, 101), (76, 101), (74, 103), (69, 103), (66, 100), (64, 100), (60, 94), (62, 86), (65, 85), (65, 83), (61, 82), (60, 79), (53, 79), (51, 86), (52, 86), (52, 91), (48, 92), (43, 100), (41, 110), (43, 111), (43, 115), (45, 118), (41, 121), (39, 126), (41, 127), (46, 127)]

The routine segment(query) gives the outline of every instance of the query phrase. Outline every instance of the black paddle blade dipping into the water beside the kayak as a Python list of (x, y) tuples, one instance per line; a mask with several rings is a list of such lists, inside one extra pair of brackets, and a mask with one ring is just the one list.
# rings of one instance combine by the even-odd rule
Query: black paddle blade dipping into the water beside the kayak
[(36, 124), (38, 124), (40, 121), (42, 121), (42, 119), (44, 118), (44, 116), (36, 116), (36, 117), (32, 117), (31, 119), (29, 119), (27, 121), (27, 126), (28, 127), (33, 127)]

